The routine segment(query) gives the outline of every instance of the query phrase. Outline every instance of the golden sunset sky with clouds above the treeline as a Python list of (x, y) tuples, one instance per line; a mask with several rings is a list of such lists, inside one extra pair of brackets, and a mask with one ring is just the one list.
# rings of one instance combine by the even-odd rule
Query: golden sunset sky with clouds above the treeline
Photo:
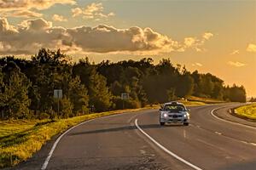
[(0, 55), (170, 58), (256, 97), (256, 0), (0, 0)]

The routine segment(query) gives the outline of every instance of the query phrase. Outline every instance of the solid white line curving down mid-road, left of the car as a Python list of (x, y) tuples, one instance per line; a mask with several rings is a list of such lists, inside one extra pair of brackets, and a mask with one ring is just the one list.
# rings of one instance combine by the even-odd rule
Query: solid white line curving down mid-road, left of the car
[(158, 143), (155, 139), (153, 139), (151, 136), (148, 135), (148, 133), (145, 133), (143, 131), (143, 129), (141, 127), (138, 126), (137, 123), (137, 119), (135, 120), (135, 125), (137, 127), (137, 129), (143, 133), (146, 137), (148, 137), (148, 139), (150, 139), (154, 144), (156, 144), (158, 147), (160, 147), (161, 150), (164, 150), (167, 154), (169, 154), (170, 156), (175, 157), (178, 161), (182, 161), (183, 163), (185, 163), (186, 165), (188, 165), (189, 167), (194, 168), (195, 170), (202, 170), (200, 167), (196, 167), (195, 165), (193, 165), (192, 163), (190, 163), (189, 161), (184, 160), (183, 158), (181, 158), (180, 156), (177, 156), (175, 153), (173, 153), (170, 150), (167, 150), (166, 147), (164, 147), (163, 145), (161, 145), (160, 143)]

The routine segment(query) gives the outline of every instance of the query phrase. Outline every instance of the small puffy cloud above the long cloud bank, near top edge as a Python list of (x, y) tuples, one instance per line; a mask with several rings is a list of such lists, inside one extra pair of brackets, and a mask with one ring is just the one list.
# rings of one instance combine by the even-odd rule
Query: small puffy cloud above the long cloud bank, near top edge
[(77, 17), (79, 15), (83, 16), (83, 19), (94, 19), (94, 20), (102, 20), (108, 19), (109, 17), (114, 16), (113, 12), (108, 14), (103, 12), (104, 8), (102, 3), (90, 3), (85, 8), (72, 8), (72, 16)]

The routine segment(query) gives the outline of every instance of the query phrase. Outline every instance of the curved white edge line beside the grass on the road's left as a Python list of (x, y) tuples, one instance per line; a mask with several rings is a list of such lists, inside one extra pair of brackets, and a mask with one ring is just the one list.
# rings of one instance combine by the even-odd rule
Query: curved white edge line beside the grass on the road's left
[[(139, 111), (138, 111), (138, 112), (139, 112)], [(84, 124), (84, 123), (86, 123), (86, 122), (91, 122), (91, 121), (94, 121), (94, 120), (96, 120), (96, 119), (101, 119), (101, 118), (106, 118), (106, 117), (112, 117), (112, 116), (120, 116), (120, 115), (129, 114), (129, 113), (132, 113), (132, 112), (129, 112), (129, 111), (128, 111), (128, 112), (124, 112), (124, 113), (120, 113), (120, 114), (113, 114), (113, 115), (109, 115), (109, 116), (96, 117), (96, 118), (94, 118), (94, 119), (90, 119), (90, 120), (85, 121), (85, 122), (80, 122), (79, 124), (77, 124), (77, 125), (75, 125), (75, 126), (69, 128), (69, 129), (67, 129), (66, 132), (62, 133), (61, 136), (59, 136), (59, 138), (55, 140), (55, 143), (53, 144), (52, 148), (50, 149), (49, 154), (48, 154), (47, 158), (45, 159), (43, 166), (41, 167), (41, 170), (45, 170), (45, 169), (47, 168), (47, 166), (48, 166), (48, 164), (49, 164), (49, 160), (50, 160), (50, 158), (51, 158), (51, 156), (52, 156), (52, 154), (53, 154), (53, 152), (54, 152), (54, 150), (55, 150), (55, 147), (56, 147), (57, 144), (60, 142), (61, 138), (62, 138), (65, 134), (67, 134), (68, 132), (70, 132), (73, 128), (79, 127), (80, 125), (82, 125), (82, 124)]]

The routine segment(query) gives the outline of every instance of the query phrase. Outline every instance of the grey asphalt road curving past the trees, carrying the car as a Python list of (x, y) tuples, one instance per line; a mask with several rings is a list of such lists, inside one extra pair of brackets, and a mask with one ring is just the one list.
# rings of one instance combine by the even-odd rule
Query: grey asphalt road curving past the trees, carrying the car
[[(156, 110), (86, 122), (61, 138), (46, 169), (255, 170), (256, 128), (224, 122), (212, 116), (215, 108), (224, 106), (213, 111), (214, 115), (226, 114), (236, 105), (191, 107), (189, 127), (160, 127)], [(144, 133), (138, 130), (136, 120)], [(35, 162), (25, 163), (19, 169), (35, 169), (36, 165), (32, 165)], [(41, 168), (42, 164), (37, 163), (37, 166)]]

